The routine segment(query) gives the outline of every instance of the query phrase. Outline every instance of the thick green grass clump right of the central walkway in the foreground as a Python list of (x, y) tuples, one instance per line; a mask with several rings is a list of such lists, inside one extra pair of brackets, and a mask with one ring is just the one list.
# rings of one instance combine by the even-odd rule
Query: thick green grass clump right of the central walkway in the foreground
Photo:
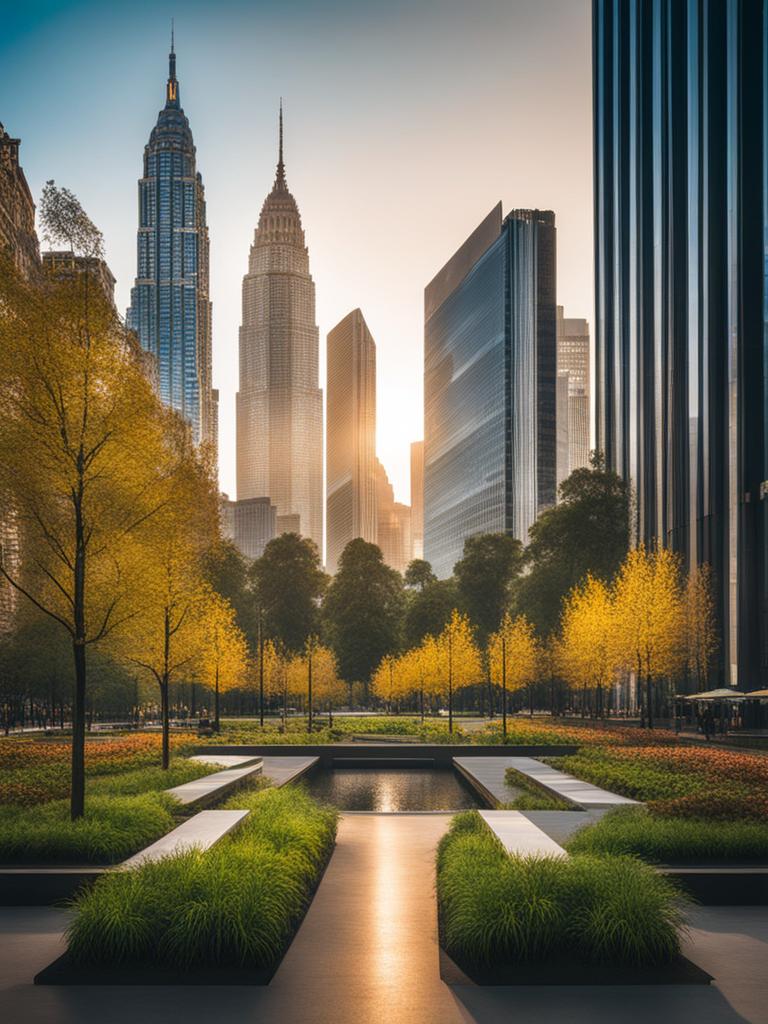
[(480, 816), (454, 818), (437, 852), (442, 940), (459, 963), (644, 967), (680, 951), (683, 897), (632, 857), (509, 856)]

